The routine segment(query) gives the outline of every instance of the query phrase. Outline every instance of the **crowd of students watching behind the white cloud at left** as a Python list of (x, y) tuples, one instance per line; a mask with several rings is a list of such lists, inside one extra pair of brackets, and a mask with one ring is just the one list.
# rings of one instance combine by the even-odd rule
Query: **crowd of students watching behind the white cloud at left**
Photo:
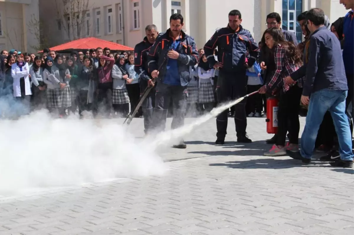
[[(78, 111), (104, 117), (127, 116), (139, 100), (133, 52), (109, 48), (73, 51), (44, 49), (39, 56), (15, 49), (1, 52), (0, 117), (16, 119), (47, 108), (63, 118)], [(131, 107), (129, 106), (131, 105)], [(142, 116), (141, 110), (136, 116)]]

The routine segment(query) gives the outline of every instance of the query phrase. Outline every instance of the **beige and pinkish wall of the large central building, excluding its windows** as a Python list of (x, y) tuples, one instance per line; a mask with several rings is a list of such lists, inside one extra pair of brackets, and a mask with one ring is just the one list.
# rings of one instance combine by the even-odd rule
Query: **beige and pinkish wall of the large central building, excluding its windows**
[[(1, 1), (1, 0), (0, 0)], [(61, 1), (61, 0), (58, 0)], [(91, 22), (91, 35), (113, 42), (134, 47), (145, 36), (144, 28), (148, 24), (155, 24), (160, 32), (165, 32), (169, 28), (169, 18), (171, 15), (171, 0), (140, 0), (139, 16), (140, 28), (133, 29), (132, 1), (134, 0), (89, 0), (89, 12)], [(44, 19), (56, 18), (55, 0), (40, 0), (40, 16)], [(181, 0), (182, 15), (184, 17), (184, 31), (194, 37), (197, 47), (201, 48), (209, 40), (217, 28), (225, 27), (228, 23), (228, 13), (237, 9), (242, 14), (242, 26), (249, 30), (256, 41), (259, 41), (262, 32), (265, 30), (265, 20), (270, 12), (282, 12), (282, 0)], [(117, 6), (122, 7), (122, 17), (124, 29), (118, 32), (116, 24), (118, 20)], [(107, 24), (106, 10), (113, 9), (112, 27), (113, 33), (105, 32)], [(339, 0), (303, 0), (303, 10), (312, 7), (322, 8), (331, 22), (338, 17), (344, 16), (346, 10), (339, 4)], [(100, 28), (101, 34), (94, 33), (95, 10), (101, 11)], [(54, 17), (53, 17), (54, 16)], [(70, 39), (65, 36), (62, 29), (58, 31), (55, 20), (47, 20), (48, 32), (50, 32), (52, 46), (61, 44)]]

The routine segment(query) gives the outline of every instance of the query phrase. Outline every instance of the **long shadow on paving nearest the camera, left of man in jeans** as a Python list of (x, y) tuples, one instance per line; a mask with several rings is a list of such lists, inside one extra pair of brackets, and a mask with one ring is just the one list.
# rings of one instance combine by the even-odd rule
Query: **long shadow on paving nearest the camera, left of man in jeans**
[(319, 167), (320, 164), (302, 165), (300, 161), (294, 159), (274, 159), (263, 158), (253, 159), (249, 161), (232, 161), (226, 163), (213, 163), (210, 166), (228, 167), (228, 168), (241, 168), (241, 169), (286, 169), (293, 167)]

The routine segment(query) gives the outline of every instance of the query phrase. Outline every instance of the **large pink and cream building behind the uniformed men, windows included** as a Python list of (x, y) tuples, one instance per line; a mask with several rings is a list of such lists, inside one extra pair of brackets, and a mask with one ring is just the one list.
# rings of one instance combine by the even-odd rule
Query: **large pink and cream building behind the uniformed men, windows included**
[[(63, 5), (75, 1), (87, 5)], [(171, 14), (181, 13), (183, 30), (194, 37), (200, 48), (217, 28), (228, 24), (228, 13), (233, 9), (241, 12), (242, 26), (256, 41), (266, 29), (270, 12), (278, 12), (283, 29), (294, 31), (301, 40), (296, 17), (313, 7), (322, 8), (331, 22), (346, 14), (339, 0), (40, 0), (40, 19), (47, 29), (45, 37), (50, 46), (93, 36), (134, 47), (145, 36), (146, 25), (155, 24), (164, 32), (169, 28)], [(46, 20), (53, 17), (54, 20)]]

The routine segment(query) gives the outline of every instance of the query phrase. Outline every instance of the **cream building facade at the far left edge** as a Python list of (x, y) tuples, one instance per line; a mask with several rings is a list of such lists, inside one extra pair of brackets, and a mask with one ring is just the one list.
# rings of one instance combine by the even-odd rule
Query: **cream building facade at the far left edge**
[(38, 0), (0, 0), (0, 50), (35, 52), (39, 26)]

